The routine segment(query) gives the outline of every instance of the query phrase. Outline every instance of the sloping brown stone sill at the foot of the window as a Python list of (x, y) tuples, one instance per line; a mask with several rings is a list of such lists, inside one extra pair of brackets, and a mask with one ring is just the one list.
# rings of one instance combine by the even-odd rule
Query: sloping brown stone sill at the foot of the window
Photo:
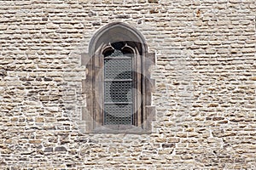
[(96, 127), (90, 133), (131, 133), (131, 134), (150, 134), (151, 132), (143, 129), (142, 127), (136, 127), (134, 125), (104, 125)]

